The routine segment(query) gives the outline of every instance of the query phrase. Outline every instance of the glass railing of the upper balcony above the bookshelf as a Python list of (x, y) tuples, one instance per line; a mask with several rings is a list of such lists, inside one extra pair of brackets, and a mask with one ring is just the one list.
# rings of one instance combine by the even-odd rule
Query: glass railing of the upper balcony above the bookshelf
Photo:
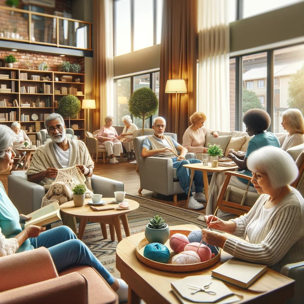
[(0, 5), (0, 39), (91, 50), (92, 23)]

